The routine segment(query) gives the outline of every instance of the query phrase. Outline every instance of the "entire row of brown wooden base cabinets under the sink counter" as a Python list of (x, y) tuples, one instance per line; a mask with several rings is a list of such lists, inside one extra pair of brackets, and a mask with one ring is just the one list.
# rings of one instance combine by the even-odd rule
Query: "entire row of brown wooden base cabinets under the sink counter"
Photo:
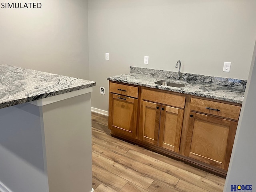
[(241, 104), (111, 82), (111, 134), (225, 176)]

